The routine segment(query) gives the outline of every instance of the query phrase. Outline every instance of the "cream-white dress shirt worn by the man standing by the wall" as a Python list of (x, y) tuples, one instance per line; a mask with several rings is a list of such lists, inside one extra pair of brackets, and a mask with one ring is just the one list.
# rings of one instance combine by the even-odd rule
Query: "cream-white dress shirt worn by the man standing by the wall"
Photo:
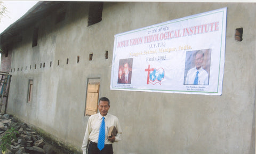
[[(117, 129), (115, 142), (120, 141), (121, 135), (122, 135), (122, 129), (119, 124), (118, 118), (109, 113), (104, 117), (105, 117), (105, 144), (113, 143), (108, 140), (108, 130), (111, 126), (116, 126), (116, 129)], [(86, 153), (87, 144), (89, 143), (89, 141), (98, 143), (101, 121), (102, 121), (102, 116), (100, 113), (90, 116), (87, 123), (86, 131), (84, 135), (84, 141), (82, 145), (83, 154)]]

